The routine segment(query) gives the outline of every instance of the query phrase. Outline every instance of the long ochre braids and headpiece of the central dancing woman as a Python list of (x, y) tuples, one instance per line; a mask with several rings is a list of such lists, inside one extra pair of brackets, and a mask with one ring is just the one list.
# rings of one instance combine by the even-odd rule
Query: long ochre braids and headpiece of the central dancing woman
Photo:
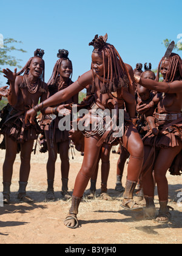
[[(101, 94), (106, 94), (108, 92), (115, 92), (122, 87), (128, 87), (132, 85), (132, 80), (130, 79), (129, 72), (127, 71), (126, 66), (124, 65), (123, 60), (120, 57), (118, 51), (112, 44), (106, 43), (107, 34), (103, 37), (95, 35), (95, 38), (92, 42), (89, 43), (89, 46), (93, 46), (93, 52), (97, 53), (103, 58), (104, 65), (104, 77), (98, 78), (103, 82), (103, 87), (101, 88)], [(108, 60), (107, 74), (105, 59)], [(93, 68), (92, 68), (93, 71)], [(92, 93), (95, 92), (95, 76), (93, 73), (93, 83), (92, 83)]]

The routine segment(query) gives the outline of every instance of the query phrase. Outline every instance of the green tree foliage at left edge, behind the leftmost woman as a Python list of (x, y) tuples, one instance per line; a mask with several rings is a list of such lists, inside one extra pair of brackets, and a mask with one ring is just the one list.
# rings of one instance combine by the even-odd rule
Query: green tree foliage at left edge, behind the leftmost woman
[[(20, 44), (21, 41), (17, 41), (13, 38), (5, 38), (4, 39), (4, 47), (0, 48), (0, 72), (2, 73), (2, 66), (16, 66), (21, 68), (19, 62), (20, 59), (17, 59), (12, 55), (12, 52), (19, 51), (19, 52), (26, 52), (23, 49), (16, 48), (15, 44)], [(0, 82), (1, 83), (1, 82)], [(1, 84), (0, 84), (1, 85)]]

